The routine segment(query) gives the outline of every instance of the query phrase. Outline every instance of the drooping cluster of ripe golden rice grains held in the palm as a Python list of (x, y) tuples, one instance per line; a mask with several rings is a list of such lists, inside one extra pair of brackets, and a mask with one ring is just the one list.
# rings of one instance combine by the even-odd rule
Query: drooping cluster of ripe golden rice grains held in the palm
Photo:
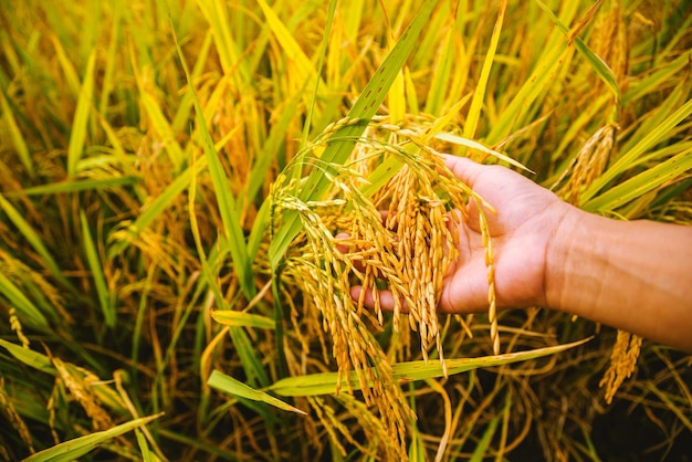
[[(292, 306), (291, 318), (304, 355), (311, 342), (319, 338), (328, 364), (326, 344), (332, 344), (339, 371), (337, 390), (347, 388), (353, 395), (357, 385), (365, 403), (375, 405), (381, 419), (370, 421), (366, 431), (379, 428), (385, 433), (376, 437), (378, 451), (400, 456), (405, 451), (405, 418), (415, 416), (392, 377), (389, 358), (410, 350), (408, 332), (415, 330), (422, 357), (427, 360), (436, 348), (444, 368), (437, 304), (443, 279), (459, 256), (457, 227), (465, 218), (469, 198), (482, 204), (479, 209), (490, 206), (449, 171), (442, 156), (426, 146), (418, 132), (388, 124), (385, 118), (369, 123), (344, 165), (325, 165), (312, 153), (316, 145), (327, 144), (337, 127), (327, 128), (312, 151), (296, 160), (327, 176), (332, 187), (325, 197), (313, 202), (300, 200), (300, 182), (285, 176), (274, 183), (273, 220), (290, 209), (300, 214), (303, 224), (285, 255), (281, 277), (284, 285), (295, 284), (303, 294), (304, 306)], [(378, 185), (366, 178), (381, 165), (398, 170), (373, 188)], [(494, 307), (492, 250), (490, 240), (485, 241), (489, 298)], [(358, 300), (350, 294), (356, 285), (363, 286)], [(394, 300), (388, 353), (376, 338), (389, 323), (380, 305), (385, 290)], [(364, 306), (366, 293), (371, 294), (371, 309)], [(410, 330), (401, 328), (402, 317)], [(496, 321), (493, 324), (496, 336)], [(328, 333), (326, 340), (316, 326)], [(368, 426), (363, 413), (359, 419)]]

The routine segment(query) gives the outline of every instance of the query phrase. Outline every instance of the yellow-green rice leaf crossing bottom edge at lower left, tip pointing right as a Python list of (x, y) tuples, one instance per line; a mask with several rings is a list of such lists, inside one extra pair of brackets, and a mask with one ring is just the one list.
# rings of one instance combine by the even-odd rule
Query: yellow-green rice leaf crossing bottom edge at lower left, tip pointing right
[(36, 452), (24, 459), (24, 462), (71, 462), (80, 459), (98, 445), (119, 437), (123, 433), (127, 433), (138, 427), (146, 426), (155, 419), (158, 419), (164, 413), (155, 416), (143, 417), (140, 419), (130, 420), (129, 422), (120, 423), (112, 429), (97, 431), (84, 437), (75, 438), (73, 440), (64, 441), (60, 444), (55, 444), (49, 449)]

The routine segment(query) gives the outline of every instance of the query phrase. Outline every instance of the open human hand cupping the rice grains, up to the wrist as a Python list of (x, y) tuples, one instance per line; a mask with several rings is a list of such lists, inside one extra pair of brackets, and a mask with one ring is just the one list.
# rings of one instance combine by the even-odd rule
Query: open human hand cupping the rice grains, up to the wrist
[[(501, 166), (484, 166), (447, 156), (448, 168), (496, 213), (485, 210), (494, 250), (497, 308), (545, 305), (546, 265), (552, 240), (572, 206), (532, 180)], [(444, 277), (438, 309), (442, 313), (479, 313), (487, 309), (485, 248), (473, 200), (469, 217), (458, 227), (459, 259)], [(357, 298), (360, 287), (353, 287)], [(380, 306), (394, 309), (391, 293), (380, 292)], [(370, 293), (366, 306), (373, 306)]]

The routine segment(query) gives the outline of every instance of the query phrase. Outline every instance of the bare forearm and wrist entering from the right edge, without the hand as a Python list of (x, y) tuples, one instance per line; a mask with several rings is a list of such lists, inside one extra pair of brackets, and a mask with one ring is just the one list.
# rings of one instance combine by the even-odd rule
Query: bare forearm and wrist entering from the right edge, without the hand
[(692, 227), (573, 210), (546, 256), (553, 308), (692, 353)]

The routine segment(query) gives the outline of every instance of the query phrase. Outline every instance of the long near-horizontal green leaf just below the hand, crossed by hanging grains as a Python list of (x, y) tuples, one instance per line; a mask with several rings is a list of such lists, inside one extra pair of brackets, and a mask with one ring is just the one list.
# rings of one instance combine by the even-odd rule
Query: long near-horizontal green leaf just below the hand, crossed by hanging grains
[[(528, 351), (507, 353), (497, 356), (445, 359), (444, 363), (447, 364), (447, 372), (451, 376), (481, 367), (502, 366), (505, 364), (520, 363), (554, 355), (556, 353), (583, 345), (590, 338), (586, 338), (570, 344), (537, 348)], [(269, 390), (280, 396), (293, 397), (329, 395), (336, 392), (338, 376), (338, 372), (322, 372), (308, 376), (289, 377), (276, 381), (274, 385), (269, 387)], [(439, 361), (426, 363), (424, 360), (418, 360), (397, 363), (392, 365), (392, 377), (403, 382), (441, 378), (444, 376), (444, 368)], [(356, 372), (350, 371), (348, 377), (344, 378), (344, 380), (349, 380), (350, 387), (353, 387), (354, 390), (360, 389)], [(345, 386), (342, 385), (342, 388), (345, 388)]]

